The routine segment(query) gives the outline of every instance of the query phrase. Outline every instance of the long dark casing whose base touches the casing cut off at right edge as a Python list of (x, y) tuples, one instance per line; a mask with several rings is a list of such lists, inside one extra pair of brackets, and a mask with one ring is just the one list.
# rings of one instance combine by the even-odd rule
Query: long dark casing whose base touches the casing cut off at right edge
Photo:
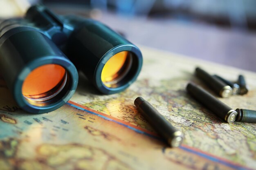
[(186, 90), (192, 97), (198, 100), (198, 102), (206, 106), (209, 110), (211, 110), (214, 114), (218, 115), (223, 120), (227, 121), (227, 123), (232, 123), (236, 120), (237, 112), (235, 110), (222, 103), (203, 88), (189, 83), (186, 86)]

